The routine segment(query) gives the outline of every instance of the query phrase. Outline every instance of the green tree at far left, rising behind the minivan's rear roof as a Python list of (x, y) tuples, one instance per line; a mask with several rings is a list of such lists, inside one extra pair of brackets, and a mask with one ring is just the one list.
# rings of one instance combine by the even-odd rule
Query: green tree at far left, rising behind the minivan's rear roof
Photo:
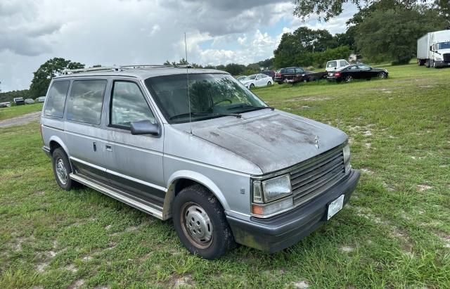
[(49, 89), (49, 84), (53, 77), (60, 75), (66, 69), (79, 68), (84, 68), (84, 64), (57, 57), (47, 60), (35, 72), (33, 72), (34, 77), (30, 86), (31, 96), (44, 96), (47, 89)]

